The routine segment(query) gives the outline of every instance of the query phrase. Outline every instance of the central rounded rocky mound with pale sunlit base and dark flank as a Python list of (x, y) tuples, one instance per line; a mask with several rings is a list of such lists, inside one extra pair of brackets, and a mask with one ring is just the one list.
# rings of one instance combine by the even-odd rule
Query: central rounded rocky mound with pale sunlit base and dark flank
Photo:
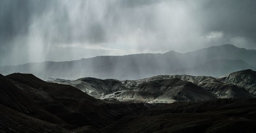
[(213, 94), (203, 88), (178, 78), (143, 82), (130, 89), (111, 93), (102, 98), (116, 98), (119, 101), (138, 100), (148, 103), (204, 101), (214, 98)]

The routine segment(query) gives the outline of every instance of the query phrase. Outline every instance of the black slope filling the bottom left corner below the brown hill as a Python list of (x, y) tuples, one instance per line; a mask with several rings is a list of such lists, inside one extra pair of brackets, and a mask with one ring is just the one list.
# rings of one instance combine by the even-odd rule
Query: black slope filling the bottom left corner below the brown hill
[(0, 104), (1, 133), (68, 133), (61, 125), (52, 124)]

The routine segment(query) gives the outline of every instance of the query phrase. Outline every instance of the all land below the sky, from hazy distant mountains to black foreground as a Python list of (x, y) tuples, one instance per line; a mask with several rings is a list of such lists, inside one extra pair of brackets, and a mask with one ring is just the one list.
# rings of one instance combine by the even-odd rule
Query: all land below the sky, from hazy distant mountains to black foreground
[(225, 44), (1, 66), (0, 132), (253, 133), (255, 59)]

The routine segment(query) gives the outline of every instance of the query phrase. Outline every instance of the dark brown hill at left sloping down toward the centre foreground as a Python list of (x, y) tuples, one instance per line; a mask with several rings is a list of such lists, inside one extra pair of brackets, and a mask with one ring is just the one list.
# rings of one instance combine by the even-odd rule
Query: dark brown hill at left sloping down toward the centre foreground
[(73, 86), (45, 82), (32, 74), (0, 75), (0, 83), (3, 106), (71, 129), (101, 128), (147, 109), (143, 104), (101, 101)]

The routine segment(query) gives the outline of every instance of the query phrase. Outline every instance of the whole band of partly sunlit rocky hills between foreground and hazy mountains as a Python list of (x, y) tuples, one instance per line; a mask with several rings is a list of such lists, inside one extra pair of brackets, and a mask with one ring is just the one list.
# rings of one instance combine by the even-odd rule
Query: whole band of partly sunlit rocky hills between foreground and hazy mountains
[(94, 98), (135, 103), (197, 102), (214, 98), (252, 98), (256, 93), (255, 71), (251, 69), (218, 78), (158, 75), (140, 80), (123, 81), (91, 77), (74, 81), (62, 79), (47, 81), (72, 85)]

